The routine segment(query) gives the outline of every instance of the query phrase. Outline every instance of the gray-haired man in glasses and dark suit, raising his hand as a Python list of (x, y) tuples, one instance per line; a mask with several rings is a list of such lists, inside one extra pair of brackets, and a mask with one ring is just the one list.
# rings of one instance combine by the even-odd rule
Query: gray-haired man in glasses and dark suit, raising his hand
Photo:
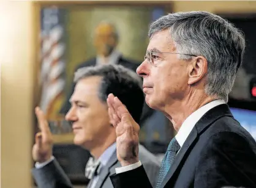
[[(137, 68), (146, 103), (178, 132), (156, 187), (256, 187), (255, 140), (227, 105), (243, 59), (243, 34), (220, 16), (198, 11), (159, 18), (149, 38)], [(138, 158), (138, 124), (118, 96), (110, 94), (107, 102), (122, 165), (110, 177), (114, 187), (152, 187)]]

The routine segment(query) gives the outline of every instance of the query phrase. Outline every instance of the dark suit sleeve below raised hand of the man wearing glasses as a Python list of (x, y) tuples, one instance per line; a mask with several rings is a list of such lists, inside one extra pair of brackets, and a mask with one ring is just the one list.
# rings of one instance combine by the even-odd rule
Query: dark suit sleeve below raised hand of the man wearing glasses
[(134, 170), (110, 176), (114, 188), (152, 188), (143, 165)]

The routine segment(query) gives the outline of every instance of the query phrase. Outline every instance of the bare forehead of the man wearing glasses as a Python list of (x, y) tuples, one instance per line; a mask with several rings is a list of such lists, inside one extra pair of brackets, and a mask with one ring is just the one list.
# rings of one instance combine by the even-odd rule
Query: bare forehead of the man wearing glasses
[(154, 52), (155, 48), (160, 52), (172, 51), (175, 48), (168, 29), (152, 35), (151, 39), (149, 40), (147, 51)]

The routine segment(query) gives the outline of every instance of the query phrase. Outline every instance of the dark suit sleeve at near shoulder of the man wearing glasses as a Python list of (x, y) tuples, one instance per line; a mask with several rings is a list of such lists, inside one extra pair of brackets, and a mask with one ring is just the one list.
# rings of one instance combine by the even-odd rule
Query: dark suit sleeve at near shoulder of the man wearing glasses
[(235, 132), (219, 132), (200, 153), (194, 187), (256, 187), (255, 177), (255, 142)]

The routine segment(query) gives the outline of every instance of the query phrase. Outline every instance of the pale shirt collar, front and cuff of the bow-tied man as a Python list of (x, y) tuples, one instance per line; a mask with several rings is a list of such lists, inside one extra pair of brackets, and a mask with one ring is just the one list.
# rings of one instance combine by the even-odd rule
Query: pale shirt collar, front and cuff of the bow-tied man
[[(111, 146), (109, 146), (107, 148), (107, 150), (105, 150), (104, 153), (102, 153), (102, 155), (99, 157), (99, 161), (100, 161), (100, 163), (102, 164), (103, 167), (105, 165), (107, 165), (108, 161), (110, 160), (110, 157), (113, 155), (115, 150), (116, 150), (116, 142), (113, 143)], [(42, 168), (45, 165), (49, 164), (51, 161), (53, 161), (53, 159), (55, 159), (55, 157), (51, 156), (51, 158), (48, 161), (45, 161), (45, 162), (42, 162), (42, 163), (36, 162), (35, 167), (36, 168)], [(98, 179), (99, 179), (99, 175), (94, 176), (94, 178), (92, 179), (92, 183), (91, 183), (90, 188), (93, 188), (93, 187), (96, 186), (96, 183), (97, 183)]]

